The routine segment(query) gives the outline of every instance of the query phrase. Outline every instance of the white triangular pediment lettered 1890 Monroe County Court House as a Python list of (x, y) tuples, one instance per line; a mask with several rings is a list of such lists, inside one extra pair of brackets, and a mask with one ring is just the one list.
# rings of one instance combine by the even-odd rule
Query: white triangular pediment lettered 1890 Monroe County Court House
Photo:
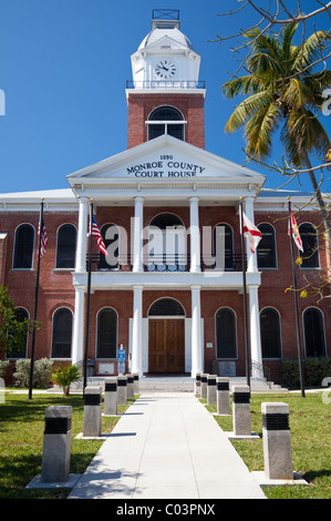
[(169, 135), (128, 149), (68, 176), (71, 185), (118, 180), (155, 183), (214, 180), (262, 185), (265, 176)]

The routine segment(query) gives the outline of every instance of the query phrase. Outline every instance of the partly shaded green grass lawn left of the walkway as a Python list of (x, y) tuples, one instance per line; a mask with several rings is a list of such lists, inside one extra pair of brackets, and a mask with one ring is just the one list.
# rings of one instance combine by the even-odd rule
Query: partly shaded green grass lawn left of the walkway
[[(127, 400), (131, 405), (134, 400)], [(72, 441), (71, 473), (83, 473), (94, 458), (103, 440), (75, 439), (83, 432), (84, 401), (81, 395), (68, 398), (61, 395), (6, 392), (4, 403), (0, 403), (0, 499), (62, 499), (69, 489), (27, 490), (25, 486), (41, 473), (44, 413), (49, 406), (71, 405)], [(126, 406), (118, 406), (124, 412)], [(120, 417), (102, 417), (102, 433), (113, 430)]]

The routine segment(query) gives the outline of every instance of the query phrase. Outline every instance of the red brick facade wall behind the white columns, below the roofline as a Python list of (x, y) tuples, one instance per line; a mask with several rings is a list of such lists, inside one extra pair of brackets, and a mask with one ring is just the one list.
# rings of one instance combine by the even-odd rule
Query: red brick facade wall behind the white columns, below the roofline
[[(144, 207), (144, 225), (162, 213), (172, 212), (182, 218), (184, 225), (189, 227), (189, 207), (182, 206), (174, 208), (164, 207)], [(131, 218), (134, 215), (133, 206), (113, 206), (97, 207), (96, 218), (101, 227), (105, 223), (114, 223), (127, 231), (128, 244), (131, 239)], [(4, 242), (0, 241), (0, 260), (2, 259), (3, 283), (9, 286), (10, 295), (17, 306), (28, 309), (30, 318), (33, 318), (34, 288), (35, 288), (35, 267), (37, 252), (34, 252), (32, 270), (13, 270), (12, 253), (14, 231), (21, 223), (31, 223), (35, 233), (38, 229), (39, 213), (8, 212), (1, 214), (1, 233), (7, 234)], [(235, 207), (223, 206), (200, 206), (199, 207), (200, 226), (215, 226), (217, 223), (228, 223), (234, 229), (235, 252), (240, 253), (240, 235), (238, 231), (238, 215)], [(261, 287), (259, 288), (260, 309), (270, 306), (276, 308), (281, 318), (282, 335), (282, 355), (283, 357), (297, 357), (297, 338), (294, 321), (293, 294), (287, 292), (292, 285), (290, 243), (288, 237), (287, 213), (279, 212), (256, 212), (256, 223), (268, 222), (273, 225), (277, 238), (277, 269), (265, 269), (261, 273)], [(69, 307), (74, 311), (74, 289), (72, 286), (71, 270), (55, 269), (55, 245), (56, 231), (61, 224), (72, 223), (77, 226), (77, 213), (75, 212), (44, 212), (44, 221), (48, 229), (49, 244), (44, 257), (41, 259), (40, 294), (39, 294), (39, 314), (38, 319), (42, 326), (37, 334), (35, 357), (51, 355), (52, 338), (52, 316), (56, 308), (61, 306)], [(300, 222), (311, 222), (319, 225), (319, 214), (314, 212), (302, 212)], [(94, 253), (97, 253), (96, 243), (93, 242)], [(128, 253), (131, 253), (128, 246)], [(321, 266), (325, 267), (325, 252), (323, 241), (320, 241)], [(0, 270), (1, 273), (1, 270)], [(319, 269), (297, 268), (299, 287), (309, 280), (318, 279)], [(190, 317), (190, 292), (183, 290), (144, 290), (143, 292), (143, 316), (147, 317), (148, 308), (154, 300), (161, 297), (173, 297), (180, 302), (185, 308), (187, 317)], [(118, 338), (117, 344), (128, 346), (128, 320), (133, 316), (133, 292), (132, 290), (103, 290), (91, 295), (91, 323), (89, 338), (89, 357), (95, 357), (96, 338), (96, 315), (105, 307), (113, 307), (118, 315)], [(216, 338), (215, 338), (215, 314), (220, 307), (230, 307), (237, 317), (237, 341), (238, 341), (238, 361), (237, 374), (245, 374), (245, 338), (242, 319), (242, 295), (237, 290), (204, 290), (201, 289), (201, 316), (205, 325), (205, 370), (211, 372), (211, 364), (215, 359)], [(308, 296), (299, 299), (300, 317), (303, 310), (309, 306), (320, 308), (324, 315), (325, 336), (328, 345), (328, 355), (331, 356), (331, 320), (330, 308), (325, 300), (317, 302), (317, 297)], [(301, 323), (302, 324), (302, 323)], [(302, 337), (303, 338), (303, 337)], [(213, 343), (214, 348), (207, 349), (206, 344)], [(31, 338), (29, 339), (29, 349), (31, 349)], [(30, 350), (29, 350), (30, 356)], [(277, 381), (279, 371), (279, 361), (266, 361), (266, 365), (272, 368), (272, 379)]]

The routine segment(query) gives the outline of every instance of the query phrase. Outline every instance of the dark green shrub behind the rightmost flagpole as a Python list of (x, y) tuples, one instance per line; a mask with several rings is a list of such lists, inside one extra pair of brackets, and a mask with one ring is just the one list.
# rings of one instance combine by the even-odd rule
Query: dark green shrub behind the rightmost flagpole
[[(320, 387), (324, 378), (331, 377), (331, 358), (304, 358), (302, 360), (304, 387)], [(282, 382), (290, 388), (300, 387), (299, 360), (281, 360)]]

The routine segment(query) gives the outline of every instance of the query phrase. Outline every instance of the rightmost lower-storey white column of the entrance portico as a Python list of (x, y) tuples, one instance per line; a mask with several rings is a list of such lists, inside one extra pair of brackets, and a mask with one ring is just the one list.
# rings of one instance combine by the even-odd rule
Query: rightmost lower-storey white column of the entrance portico
[(250, 317), (250, 360), (251, 360), (251, 376), (254, 378), (262, 378), (262, 348), (261, 348), (261, 334), (260, 334), (260, 313), (259, 313), (259, 296), (258, 286), (248, 286), (249, 295), (249, 317)]

